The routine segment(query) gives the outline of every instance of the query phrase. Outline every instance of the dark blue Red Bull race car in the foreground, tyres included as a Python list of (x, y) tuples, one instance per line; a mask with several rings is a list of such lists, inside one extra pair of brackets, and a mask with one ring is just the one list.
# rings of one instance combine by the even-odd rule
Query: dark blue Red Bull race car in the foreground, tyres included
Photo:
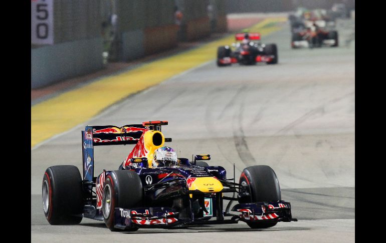
[[(134, 231), (239, 221), (251, 228), (267, 228), (297, 221), (291, 216), (291, 204), (281, 199), (271, 167), (247, 167), (236, 182), (222, 166), (207, 163), (209, 154), (192, 160), (177, 157), (164, 146), (171, 141), (161, 132), (167, 124), (86, 126), (83, 175), (74, 165), (51, 166), (44, 173), (43, 209), (48, 222), (78, 224), (86, 217), (104, 221), (111, 231)], [(94, 176), (94, 146), (120, 144), (135, 146), (117, 170)], [(224, 200), (230, 200), (225, 208)]]

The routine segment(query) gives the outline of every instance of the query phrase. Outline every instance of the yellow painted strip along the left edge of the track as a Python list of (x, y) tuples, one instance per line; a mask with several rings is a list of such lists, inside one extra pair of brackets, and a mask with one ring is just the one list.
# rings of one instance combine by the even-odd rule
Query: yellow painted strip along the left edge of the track
[[(264, 26), (274, 22), (286, 22), (286, 18), (265, 19), (250, 32), (262, 36), (281, 29)], [(263, 28), (262, 28), (263, 27)], [(234, 35), (203, 45), (171, 57), (163, 58), (118, 75), (109, 76), (31, 107), (31, 148), (52, 136), (81, 124), (100, 113), (106, 107), (130, 94), (156, 85), (178, 73), (213, 60), (217, 47), (230, 45)]]

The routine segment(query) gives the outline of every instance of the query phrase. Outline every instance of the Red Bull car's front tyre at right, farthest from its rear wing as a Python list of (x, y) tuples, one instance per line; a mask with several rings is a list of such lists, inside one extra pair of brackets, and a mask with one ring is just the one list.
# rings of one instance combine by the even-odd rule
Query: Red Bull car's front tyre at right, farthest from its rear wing
[[(240, 175), (240, 184), (248, 192), (247, 197), (239, 199), (240, 203), (279, 201), (281, 190), (275, 171), (268, 165), (249, 166)], [(251, 228), (268, 228), (277, 222), (247, 222)]]

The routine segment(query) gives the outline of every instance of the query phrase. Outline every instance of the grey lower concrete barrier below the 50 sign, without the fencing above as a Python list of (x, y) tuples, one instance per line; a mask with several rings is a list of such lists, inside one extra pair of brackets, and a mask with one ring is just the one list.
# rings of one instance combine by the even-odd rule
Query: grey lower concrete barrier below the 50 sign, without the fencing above
[(102, 50), (101, 38), (31, 49), (31, 88), (101, 69)]

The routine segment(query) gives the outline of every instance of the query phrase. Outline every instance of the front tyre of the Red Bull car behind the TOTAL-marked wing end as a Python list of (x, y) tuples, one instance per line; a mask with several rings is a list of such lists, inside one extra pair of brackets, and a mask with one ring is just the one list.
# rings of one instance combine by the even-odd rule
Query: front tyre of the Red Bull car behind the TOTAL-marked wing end
[[(142, 203), (143, 187), (136, 172), (114, 170), (106, 176), (103, 186), (102, 212), (104, 222), (111, 231), (122, 231), (122, 229), (114, 228), (114, 211), (116, 207), (140, 207)], [(138, 227), (134, 226), (123, 231), (135, 231), (137, 229)]]

